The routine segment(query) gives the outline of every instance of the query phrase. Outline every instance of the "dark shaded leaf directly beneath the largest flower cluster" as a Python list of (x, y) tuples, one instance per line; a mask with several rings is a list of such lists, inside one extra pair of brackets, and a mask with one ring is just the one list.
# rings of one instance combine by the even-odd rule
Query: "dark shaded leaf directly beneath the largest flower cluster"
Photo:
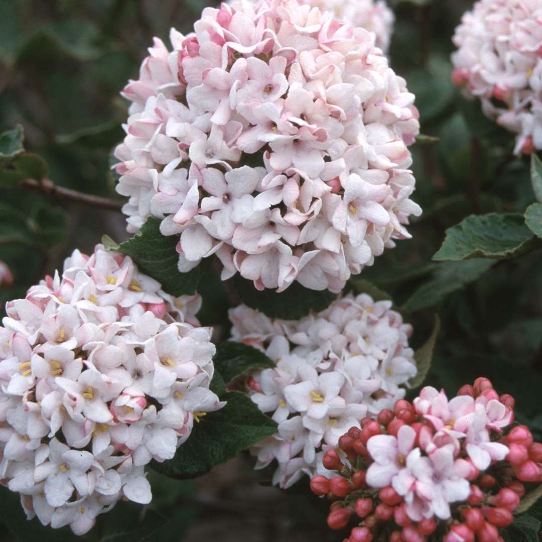
[(240, 275), (235, 276), (234, 285), (245, 305), (263, 312), (269, 318), (284, 320), (299, 320), (311, 311), (323, 311), (337, 298), (337, 294), (329, 290), (310, 290), (299, 282), (294, 282), (280, 293), (269, 288), (259, 292), (251, 281)]

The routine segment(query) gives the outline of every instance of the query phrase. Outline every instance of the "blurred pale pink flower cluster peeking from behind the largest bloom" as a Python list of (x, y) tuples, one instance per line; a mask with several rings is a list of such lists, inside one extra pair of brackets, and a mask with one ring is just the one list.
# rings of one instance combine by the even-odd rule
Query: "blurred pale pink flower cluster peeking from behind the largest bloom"
[(350, 21), (354, 27), (374, 32), (376, 46), (384, 53), (388, 51), (395, 17), (382, 0), (302, 0), (302, 3), (331, 11), (336, 18)]

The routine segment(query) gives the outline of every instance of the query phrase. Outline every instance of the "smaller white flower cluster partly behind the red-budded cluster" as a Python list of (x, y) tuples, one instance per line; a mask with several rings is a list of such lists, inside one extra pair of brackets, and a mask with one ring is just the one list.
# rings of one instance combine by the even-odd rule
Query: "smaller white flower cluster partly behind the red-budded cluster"
[(250, 398), (279, 424), (251, 449), (256, 468), (278, 461), (273, 483), (289, 487), (312, 476), (322, 450), (404, 396), (399, 386), (416, 374), (412, 327), (390, 306), (350, 294), (299, 321), (271, 320), (245, 306), (230, 311), (233, 340), (276, 362), (247, 380)]

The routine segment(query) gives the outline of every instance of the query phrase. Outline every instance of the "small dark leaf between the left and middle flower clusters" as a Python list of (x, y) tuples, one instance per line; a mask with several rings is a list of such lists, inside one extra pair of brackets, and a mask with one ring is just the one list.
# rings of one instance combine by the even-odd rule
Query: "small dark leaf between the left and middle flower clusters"
[(234, 341), (225, 341), (218, 345), (213, 361), (215, 369), (226, 384), (247, 371), (275, 366), (260, 350)]

